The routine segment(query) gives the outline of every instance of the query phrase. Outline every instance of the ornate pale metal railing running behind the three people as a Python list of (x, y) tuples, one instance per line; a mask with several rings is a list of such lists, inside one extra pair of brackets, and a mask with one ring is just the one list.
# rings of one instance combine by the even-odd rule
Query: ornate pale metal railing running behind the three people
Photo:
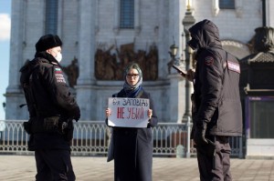
[[(5, 120), (0, 130), (0, 154), (32, 155), (27, 150), (28, 135), (23, 120)], [(2, 121), (3, 124), (3, 121)], [(159, 123), (153, 127), (153, 156), (195, 156), (195, 147), (189, 138), (191, 124)], [(104, 121), (79, 121), (74, 124), (71, 146), (73, 156), (106, 156), (110, 142), (110, 127)], [(232, 156), (242, 157), (242, 138), (230, 140)]]

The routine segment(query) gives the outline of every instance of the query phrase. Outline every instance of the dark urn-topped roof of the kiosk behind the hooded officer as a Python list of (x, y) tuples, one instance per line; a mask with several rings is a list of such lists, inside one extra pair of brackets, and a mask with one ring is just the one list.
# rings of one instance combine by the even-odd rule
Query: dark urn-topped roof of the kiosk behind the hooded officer
[(262, 26), (255, 32), (249, 41), (252, 54), (240, 60), (240, 86), (247, 95), (273, 96), (274, 28)]

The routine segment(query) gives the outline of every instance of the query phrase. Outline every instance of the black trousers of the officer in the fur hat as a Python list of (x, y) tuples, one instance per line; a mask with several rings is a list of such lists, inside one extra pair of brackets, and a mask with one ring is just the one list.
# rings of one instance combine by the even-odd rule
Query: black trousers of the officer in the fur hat
[(75, 181), (68, 150), (36, 150), (37, 181)]

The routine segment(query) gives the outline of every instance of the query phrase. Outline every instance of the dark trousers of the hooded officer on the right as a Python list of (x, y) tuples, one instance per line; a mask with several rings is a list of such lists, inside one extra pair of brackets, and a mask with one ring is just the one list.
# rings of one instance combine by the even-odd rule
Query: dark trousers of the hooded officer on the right
[(210, 137), (216, 146), (196, 147), (201, 181), (230, 181), (231, 148), (227, 136)]

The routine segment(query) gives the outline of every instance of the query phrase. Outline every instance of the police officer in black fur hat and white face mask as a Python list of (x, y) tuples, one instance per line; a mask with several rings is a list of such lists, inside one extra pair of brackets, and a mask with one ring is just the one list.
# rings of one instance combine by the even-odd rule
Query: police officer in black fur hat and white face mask
[(80, 110), (59, 65), (61, 45), (58, 35), (43, 35), (35, 58), (20, 70), (29, 112), (24, 127), (30, 134), (28, 148), (35, 151), (37, 181), (75, 180), (70, 142), (72, 120), (79, 120)]

